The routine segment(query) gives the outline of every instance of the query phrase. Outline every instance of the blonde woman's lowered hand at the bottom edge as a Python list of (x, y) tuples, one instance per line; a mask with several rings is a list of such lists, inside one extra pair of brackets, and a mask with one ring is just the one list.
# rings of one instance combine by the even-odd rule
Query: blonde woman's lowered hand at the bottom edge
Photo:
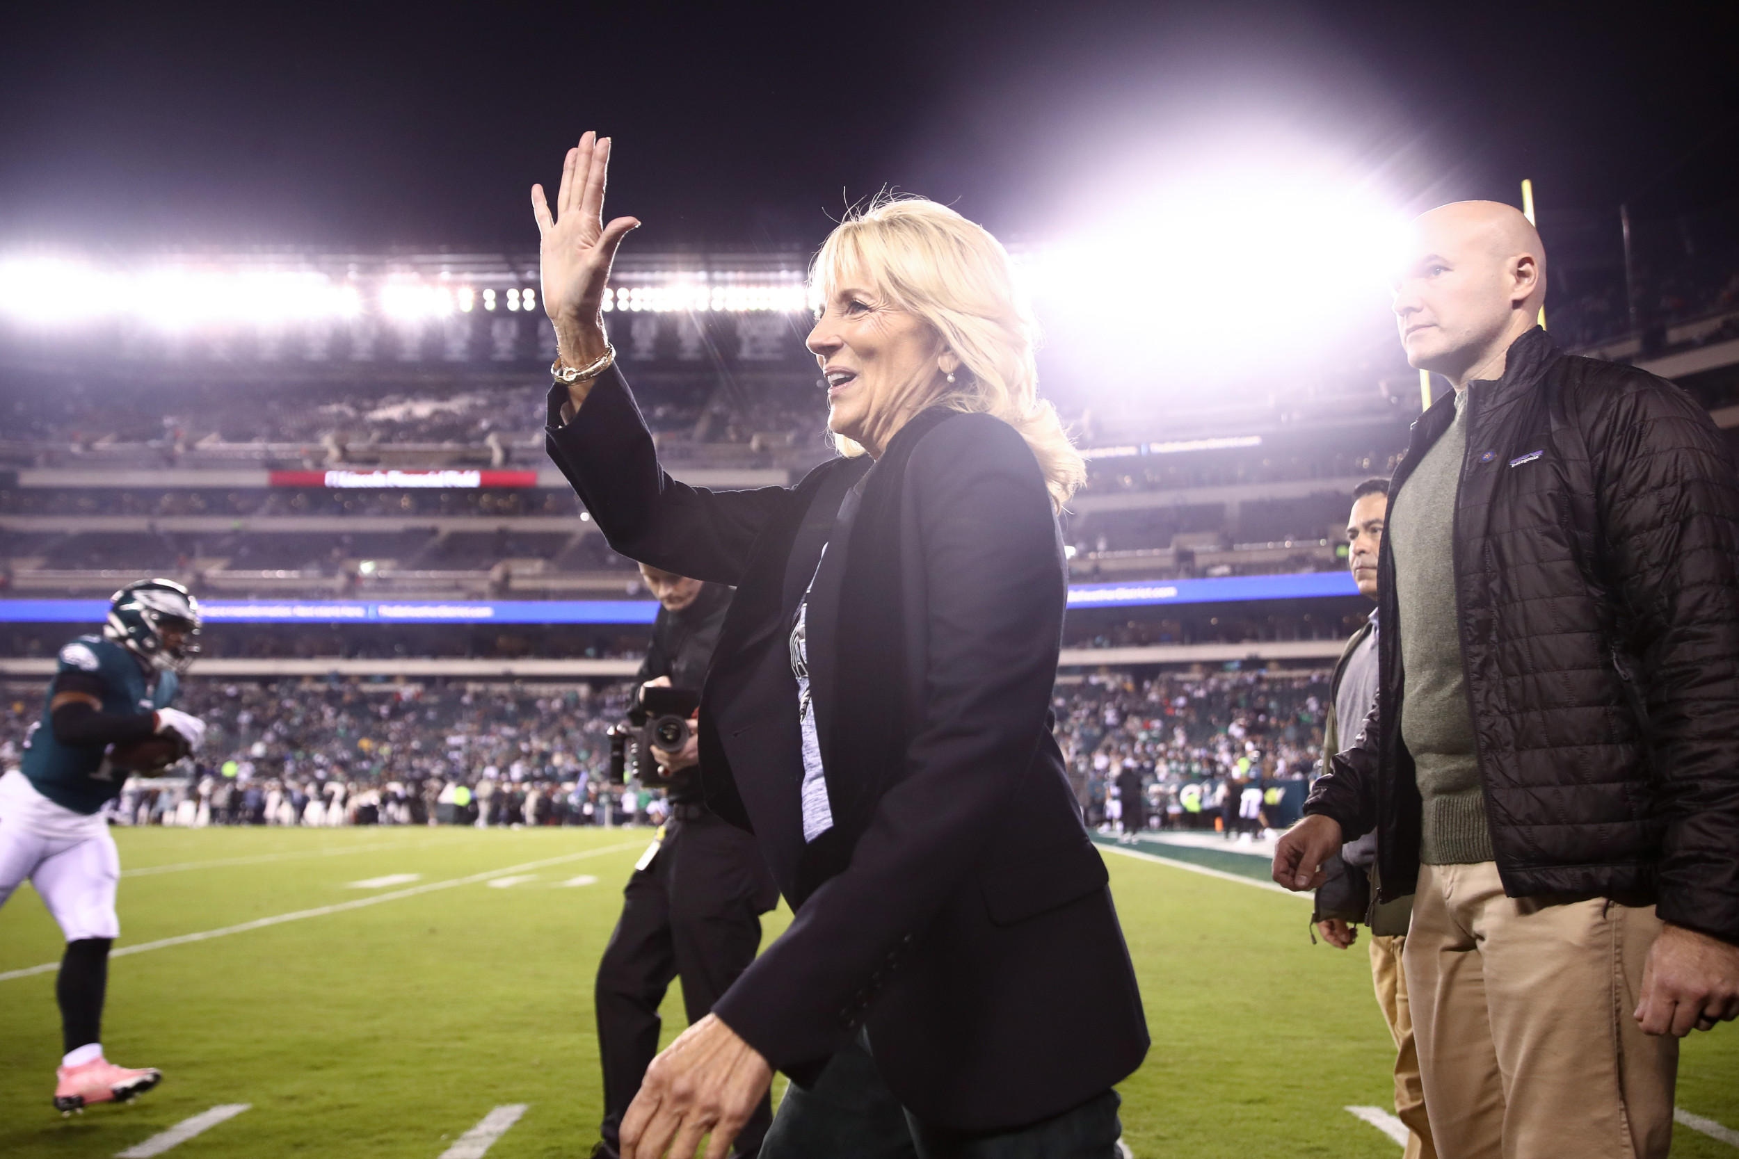
[(725, 1159), (737, 1131), (772, 1086), (772, 1067), (737, 1032), (706, 1015), (671, 1043), (623, 1117), (623, 1159)]

